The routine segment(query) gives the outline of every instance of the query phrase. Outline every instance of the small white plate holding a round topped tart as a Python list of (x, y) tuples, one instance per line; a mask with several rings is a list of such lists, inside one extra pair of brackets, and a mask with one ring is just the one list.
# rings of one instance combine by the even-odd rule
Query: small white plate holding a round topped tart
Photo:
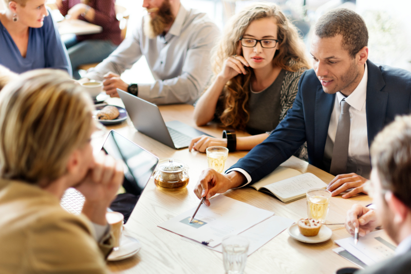
[(288, 228), (291, 238), (307, 243), (316, 244), (328, 241), (332, 236), (332, 230), (314, 219), (301, 219)]

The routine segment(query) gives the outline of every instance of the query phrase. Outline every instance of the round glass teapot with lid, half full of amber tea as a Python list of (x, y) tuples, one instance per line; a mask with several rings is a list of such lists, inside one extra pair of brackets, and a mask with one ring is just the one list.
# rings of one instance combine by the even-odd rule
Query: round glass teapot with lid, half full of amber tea
[(175, 191), (185, 188), (189, 184), (188, 167), (184, 162), (165, 159), (159, 162), (158, 170), (154, 174), (156, 186), (165, 191)]

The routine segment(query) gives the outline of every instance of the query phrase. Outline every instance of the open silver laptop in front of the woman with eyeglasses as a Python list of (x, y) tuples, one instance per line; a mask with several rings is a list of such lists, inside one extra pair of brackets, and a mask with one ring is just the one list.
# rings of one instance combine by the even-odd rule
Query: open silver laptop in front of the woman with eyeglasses
[(117, 88), (136, 129), (173, 149), (187, 148), (192, 138), (208, 135), (179, 121), (164, 123), (157, 105)]

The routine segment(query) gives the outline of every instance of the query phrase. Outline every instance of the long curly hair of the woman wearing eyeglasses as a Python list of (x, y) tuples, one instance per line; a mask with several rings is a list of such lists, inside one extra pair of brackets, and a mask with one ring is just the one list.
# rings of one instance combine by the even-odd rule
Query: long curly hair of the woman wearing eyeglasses
[[(277, 25), (277, 39), (279, 40), (278, 50), (273, 58), (274, 66), (281, 67), (288, 71), (297, 71), (303, 67), (310, 68), (307, 61), (305, 46), (294, 25), (287, 19), (277, 5), (271, 3), (254, 3), (232, 16), (227, 23), (222, 40), (212, 52), (212, 67), (214, 77), (222, 70), (223, 62), (241, 49), (239, 38), (244, 35), (251, 22), (274, 18)], [(220, 119), (225, 126), (232, 126), (235, 129), (244, 130), (249, 120), (248, 99), (250, 79), (253, 69), (245, 67), (247, 75), (237, 75), (225, 86), (224, 108)]]

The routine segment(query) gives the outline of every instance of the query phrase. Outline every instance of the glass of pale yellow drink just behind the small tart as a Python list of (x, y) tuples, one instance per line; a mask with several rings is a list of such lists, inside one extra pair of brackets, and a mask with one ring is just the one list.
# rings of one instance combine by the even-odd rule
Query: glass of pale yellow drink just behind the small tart
[(307, 191), (307, 214), (309, 218), (325, 223), (329, 209), (331, 192), (325, 189)]

